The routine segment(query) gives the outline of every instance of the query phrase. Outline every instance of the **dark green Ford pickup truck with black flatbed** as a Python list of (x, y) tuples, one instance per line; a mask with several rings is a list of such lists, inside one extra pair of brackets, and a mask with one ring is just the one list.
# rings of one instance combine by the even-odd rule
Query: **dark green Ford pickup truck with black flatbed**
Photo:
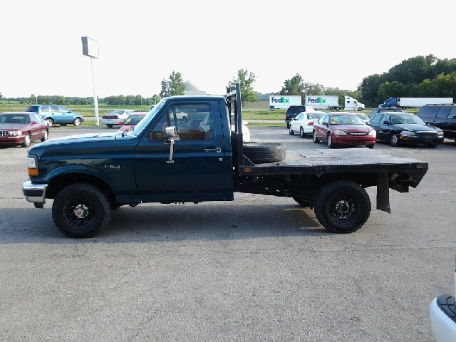
[(53, 199), (69, 237), (98, 234), (122, 205), (232, 201), (234, 192), (292, 197), (329, 231), (350, 233), (370, 215), (366, 187), (390, 212), (389, 189), (408, 192), (427, 172), (427, 162), (370, 149), (243, 142), (239, 94), (237, 84), (226, 96), (163, 98), (131, 131), (41, 142), (28, 150), (22, 191), (37, 208)]

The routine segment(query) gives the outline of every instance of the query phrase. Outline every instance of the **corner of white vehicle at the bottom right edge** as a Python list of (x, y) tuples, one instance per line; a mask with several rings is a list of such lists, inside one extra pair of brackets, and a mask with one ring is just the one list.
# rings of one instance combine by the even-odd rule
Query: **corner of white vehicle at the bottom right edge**
[(444, 294), (430, 304), (430, 326), (436, 342), (456, 341), (455, 297)]

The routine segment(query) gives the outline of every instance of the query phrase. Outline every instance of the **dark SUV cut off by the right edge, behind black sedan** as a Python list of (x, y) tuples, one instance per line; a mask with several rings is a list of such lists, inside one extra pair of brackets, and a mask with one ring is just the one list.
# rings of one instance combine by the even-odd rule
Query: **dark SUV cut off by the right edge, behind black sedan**
[(416, 115), (425, 123), (443, 130), (445, 138), (456, 141), (456, 105), (423, 105)]

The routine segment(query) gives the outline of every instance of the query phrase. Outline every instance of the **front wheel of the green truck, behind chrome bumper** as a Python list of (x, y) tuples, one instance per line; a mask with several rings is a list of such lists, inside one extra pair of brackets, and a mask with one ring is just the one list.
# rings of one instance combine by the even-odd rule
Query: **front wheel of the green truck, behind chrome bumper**
[(106, 195), (86, 183), (63, 188), (52, 205), (54, 224), (68, 237), (93, 237), (108, 225), (110, 215)]

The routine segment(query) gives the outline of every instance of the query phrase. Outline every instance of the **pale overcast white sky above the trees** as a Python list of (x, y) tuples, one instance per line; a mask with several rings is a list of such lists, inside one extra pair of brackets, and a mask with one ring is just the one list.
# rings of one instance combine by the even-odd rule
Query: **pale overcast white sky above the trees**
[(6, 98), (92, 96), (82, 36), (99, 43), (100, 98), (151, 97), (172, 71), (209, 94), (225, 93), (239, 69), (257, 76), (260, 93), (279, 91), (296, 73), (356, 90), (364, 77), (410, 57), (456, 58), (456, 1), (6, 1)]

